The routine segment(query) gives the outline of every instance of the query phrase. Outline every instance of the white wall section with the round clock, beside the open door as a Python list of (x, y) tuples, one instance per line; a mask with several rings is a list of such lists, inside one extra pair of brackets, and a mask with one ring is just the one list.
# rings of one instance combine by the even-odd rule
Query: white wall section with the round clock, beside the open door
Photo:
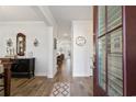
[[(72, 76), (86, 77), (92, 76), (91, 57), (93, 55), (93, 32), (91, 21), (73, 21), (72, 22)], [(76, 38), (84, 36), (87, 43), (84, 46), (78, 46)]]

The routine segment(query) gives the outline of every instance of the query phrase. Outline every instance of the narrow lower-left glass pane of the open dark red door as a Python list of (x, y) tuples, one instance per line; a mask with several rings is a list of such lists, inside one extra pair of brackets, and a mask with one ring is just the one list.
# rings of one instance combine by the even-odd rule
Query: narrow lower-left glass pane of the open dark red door
[(105, 90), (105, 36), (99, 38), (99, 86)]

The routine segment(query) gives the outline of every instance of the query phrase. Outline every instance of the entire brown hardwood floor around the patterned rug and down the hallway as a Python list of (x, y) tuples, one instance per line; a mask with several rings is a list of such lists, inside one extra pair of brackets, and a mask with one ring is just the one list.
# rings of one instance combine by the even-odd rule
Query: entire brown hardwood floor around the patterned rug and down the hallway
[(53, 79), (46, 77), (35, 77), (32, 79), (12, 78), (11, 97), (48, 97), (56, 82), (70, 82), (71, 97), (93, 95), (93, 78), (72, 78), (68, 65), (65, 61), (64, 65), (58, 68), (58, 71)]

